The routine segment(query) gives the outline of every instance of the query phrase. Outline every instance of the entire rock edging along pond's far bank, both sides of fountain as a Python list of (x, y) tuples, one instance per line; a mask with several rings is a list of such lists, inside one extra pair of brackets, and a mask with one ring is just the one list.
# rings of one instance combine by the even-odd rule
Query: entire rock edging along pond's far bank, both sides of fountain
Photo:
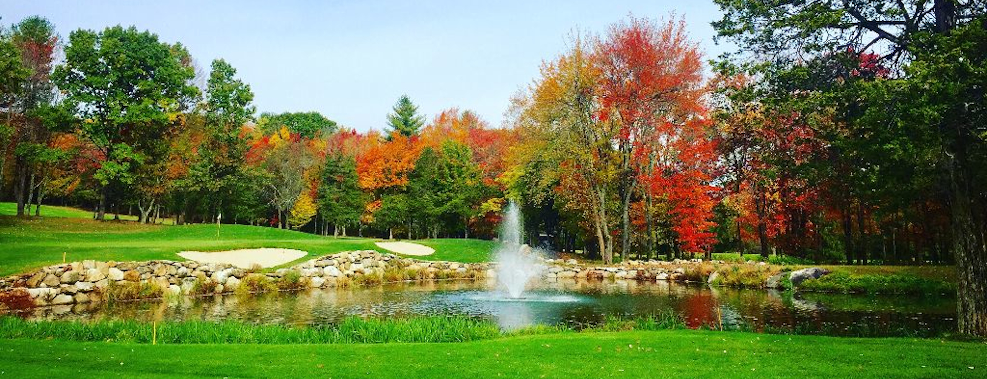
[[(813, 271), (819, 272), (822, 271)], [(549, 281), (612, 278), (709, 282), (746, 287), (782, 287), (786, 285), (785, 275), (796, 276), (795, 272), (784, 272), (774, 265), (723, 265), (683, 260), (629, 261), (610, 266), (583, 265), (574, 260), (545, 260), (542, 269), (542, 279)], [(495, 276), (493, 263), (422, 261), (375, 251), (334, 254), (273, 272), (194, 261), (83, 261), (48, 265), (34, 272), (0, 279), (0, 310), (149, 299), (166, 295), (266, 292), (403, 280), (487, 279)]]

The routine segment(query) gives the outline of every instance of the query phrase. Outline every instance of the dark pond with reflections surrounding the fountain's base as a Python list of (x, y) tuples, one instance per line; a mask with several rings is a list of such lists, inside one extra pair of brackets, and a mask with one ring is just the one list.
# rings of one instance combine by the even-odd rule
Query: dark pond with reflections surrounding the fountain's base
[(512, 330), (533, 324), (581, 328), (608, 316), (674, 312), (691, 328), (740, 328), (833, 336), (933, 337), (955, 330), (949, 297), (863, 296), (731, 289), (668, 281), (568, 280), (507, 299), (492, 282), (435, 281), (260, 295), (179, 297), (167, 301), (38, 308), (47, 320), (237, 320), (326, 325), (351, 316), (464, 315)]

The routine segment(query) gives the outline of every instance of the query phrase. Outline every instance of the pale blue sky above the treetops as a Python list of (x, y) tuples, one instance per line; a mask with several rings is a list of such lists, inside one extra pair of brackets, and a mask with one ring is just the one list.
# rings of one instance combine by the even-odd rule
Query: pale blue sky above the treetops
[(572, 31), (603, 33), (630, 14), (675, 12), (708, 57), (723, 50), (709, 0), (3, 3), (3, 24), (40, 15), (65, 39), (119, 24), (181, 41), (205, 72), (218, 57), (236, 67), (259, 112), (318, 111), (357, 130), (383, 128), (402, 94), (428, 119), (458, 107), (499, 125), (510, 96), (566, 49)]

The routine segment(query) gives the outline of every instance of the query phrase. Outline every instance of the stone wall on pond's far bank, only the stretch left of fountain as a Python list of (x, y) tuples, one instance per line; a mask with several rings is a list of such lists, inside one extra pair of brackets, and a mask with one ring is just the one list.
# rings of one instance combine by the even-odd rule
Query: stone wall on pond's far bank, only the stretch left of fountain
[[(380, 282), (389, 271), (402, 278), (447, 279), (493, 276), (491, 264), (419, 261), (375, 251), (346, 252), (280, 268), (274, 272), (252, 272), (233, 265), (200, 264), (193, 261), (96, 262), (83, 261), (49, 265), (38, 271), (0, 279), (0, 310), (14, 300), (30, 296), (33, 306), (83, 304), (104, 299), (114, 285), (150, 283), (165, 294), (191, 294), (207, 282), (215, 293), (235, 291), (248, 275), (264, 275), (276, 282), (297, 272), (306, 287), (334, 287), (351, 281)], [(415, 277), (407, 277), (409, 274)], [(200, 289), (198, 289), (200, 290)], [(22, 299), (17, 299), (20, 296)]]

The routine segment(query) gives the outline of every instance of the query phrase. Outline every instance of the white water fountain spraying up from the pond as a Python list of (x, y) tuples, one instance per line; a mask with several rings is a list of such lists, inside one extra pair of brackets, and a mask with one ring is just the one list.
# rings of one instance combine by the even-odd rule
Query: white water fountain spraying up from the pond
[(521, 212), (513, 201), (507, 204), (500, 224), (500, 244), (493, 252), (498, 286), (511, 299), (524, 298), (524, 290), (539, 277), (538, 254), (521, 243)]

